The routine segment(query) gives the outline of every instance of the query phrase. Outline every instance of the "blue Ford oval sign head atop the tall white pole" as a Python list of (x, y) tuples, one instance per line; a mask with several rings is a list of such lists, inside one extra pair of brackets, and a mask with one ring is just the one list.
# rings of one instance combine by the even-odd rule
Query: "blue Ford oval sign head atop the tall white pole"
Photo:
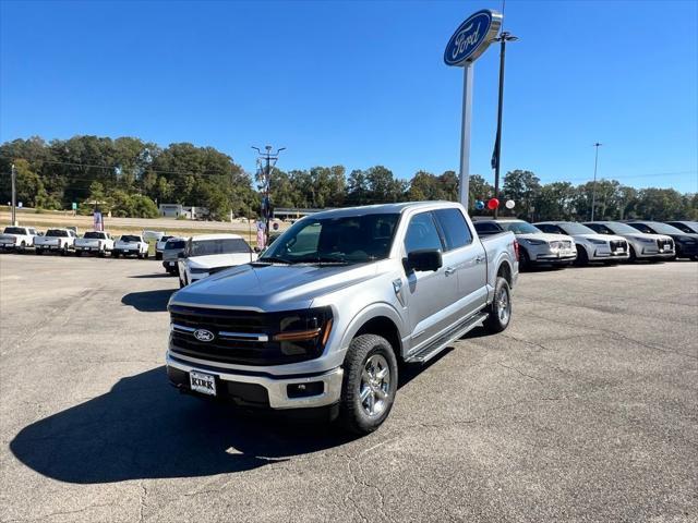
[(502, 15), (496, 11), (483, 9), (471, 15), (448, 40), (444, 51), (446, 65), (474, 62), (485, 51), (492, 38), (497, 36), (501, 25)]

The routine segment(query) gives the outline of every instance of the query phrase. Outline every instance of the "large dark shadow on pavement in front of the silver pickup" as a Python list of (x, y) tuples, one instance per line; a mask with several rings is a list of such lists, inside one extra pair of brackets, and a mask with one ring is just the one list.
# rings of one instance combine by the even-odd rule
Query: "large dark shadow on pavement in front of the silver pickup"
[(180, 396), (158, 367), (26, 426), (10, 449), (45, 476), (100, 484), (242, 472), (352, 439), (326, 423), (243, 415)]

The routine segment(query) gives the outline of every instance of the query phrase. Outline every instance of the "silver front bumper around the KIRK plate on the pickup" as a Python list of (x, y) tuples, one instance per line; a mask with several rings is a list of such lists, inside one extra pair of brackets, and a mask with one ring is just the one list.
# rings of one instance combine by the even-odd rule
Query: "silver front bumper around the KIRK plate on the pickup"
[[(230, 400), (242, 405), (278, 410), (321, 408), (337, 403), (341, 396), (344, 376), (341, 367), (309, 376), (273, 377), (263, 373), (236, 374), (227, 368), (172, 356), (169, 351), (166, 360), (167, 375), (174, 387), (191, 392), (189, 373), (194, 370), (215, 376), (216, 399)], [(313, 396), (289, 397), (289, 386), (310, 386), (310, 384), (322, 384), (322, 392)], [(314, 387), (318, 386), (313, 385), (309, 388), (312, 390)], [(214, 399), (214, 397), (208, 398)]]

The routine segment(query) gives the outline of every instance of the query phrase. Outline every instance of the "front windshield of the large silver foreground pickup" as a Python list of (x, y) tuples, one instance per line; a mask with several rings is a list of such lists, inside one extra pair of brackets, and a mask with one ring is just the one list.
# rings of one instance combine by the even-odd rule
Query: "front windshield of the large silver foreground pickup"
[(281, 234), (260, 262), (363, 263), (386, 258), (398, 214), (305, 218)]

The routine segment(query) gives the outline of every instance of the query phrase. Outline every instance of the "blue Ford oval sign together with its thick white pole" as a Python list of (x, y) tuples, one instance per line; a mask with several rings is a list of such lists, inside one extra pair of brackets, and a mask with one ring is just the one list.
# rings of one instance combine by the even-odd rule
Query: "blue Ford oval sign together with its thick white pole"
[(470, 190), (470, 123), (472, 121), (473, 62), (488, 49), (502, 26), (502, 14), (483, 9), (458, 26), (444, 51), (446, 65), (464, 68), (462, 119), (460, 125), (460, 203), (468, 208)]

